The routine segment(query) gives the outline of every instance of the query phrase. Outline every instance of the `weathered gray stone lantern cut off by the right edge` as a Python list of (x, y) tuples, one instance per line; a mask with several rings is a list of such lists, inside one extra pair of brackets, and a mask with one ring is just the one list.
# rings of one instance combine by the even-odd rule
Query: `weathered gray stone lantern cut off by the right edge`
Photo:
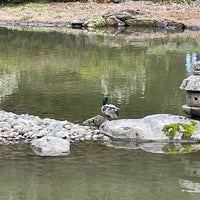
[(200, 61), (194, 65), (192, 75), (183, 80), (180, 89), (186, 90), (183, 111), (193, 118), (200, 118)]

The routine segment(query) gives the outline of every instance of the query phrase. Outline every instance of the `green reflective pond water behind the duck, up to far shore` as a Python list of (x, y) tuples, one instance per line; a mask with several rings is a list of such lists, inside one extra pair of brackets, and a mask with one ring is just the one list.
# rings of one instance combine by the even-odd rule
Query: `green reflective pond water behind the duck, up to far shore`
[(15, 86), (0, 108), (82, 122), (100, 114), (107, 94), (123, 118), (183, 114), (185, 94), (179, 86), (187, 74), (185, 65), (191, 70), (199, 53), (198, 40), (152, 39), (148, 34), (155, 33), (134, 39), (130, 34), (77, 36), (1, 28), (1, 74), (17, 78), (8, 83)]

